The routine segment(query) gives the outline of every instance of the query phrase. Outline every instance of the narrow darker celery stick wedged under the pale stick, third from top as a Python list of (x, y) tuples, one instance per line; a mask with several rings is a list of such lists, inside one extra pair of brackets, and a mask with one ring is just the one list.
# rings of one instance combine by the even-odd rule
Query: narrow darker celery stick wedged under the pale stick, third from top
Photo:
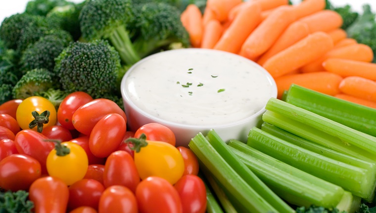
[(281, 128), (278, 128), (277, 126), (272, 125), (270, 123), (264, 122), (261, 125), (261, 130), (269, 134), (272, 134), (278, 138), (281, 138), (282, 140), (288, 141), (289, 143), (295, 144), (296, 146), (321, 154), (328, 158), (339, 160), (341, 162), (344, 162), (350, 165), (355, 165), (355, 166), (367, 169), (368, 172), (376, 176), (376, 162), (375, 161), (372, 162), (371, 160), (370, 161), (361, 160), (353, 156), (349, 156), (347, 154), (331, 150), (329, 148), (323, 147), (321, 145), (308, 141), (304, 138), (301, 138), (297, 135), (294, 135)]

